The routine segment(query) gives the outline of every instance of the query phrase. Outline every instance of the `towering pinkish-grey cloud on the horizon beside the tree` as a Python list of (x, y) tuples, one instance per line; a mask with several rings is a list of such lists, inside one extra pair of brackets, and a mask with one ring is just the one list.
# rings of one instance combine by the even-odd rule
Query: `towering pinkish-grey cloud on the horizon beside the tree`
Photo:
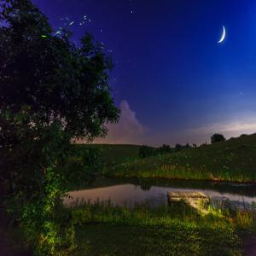
[(108, 124), (107, 137), (96, 138), (95, 143), (142, 144), (148, 128), (139, 122), (128, 102), (122, 101), (119, 108), (121, 110), (119, 122)]

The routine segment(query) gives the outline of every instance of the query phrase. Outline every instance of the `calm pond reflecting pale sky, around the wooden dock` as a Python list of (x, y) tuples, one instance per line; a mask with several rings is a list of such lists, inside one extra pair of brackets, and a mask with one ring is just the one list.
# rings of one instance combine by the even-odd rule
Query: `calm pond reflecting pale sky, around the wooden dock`
[(244, 206), (256, 201), (256, 185), (251, 183), (220, 183), (164, 178), (99, 177), (79, 191), (69, 192), (64, 205), (73, 207), (84, 201), (111, 201), (113, 205), (133, 207), (138, 203), (158, 206), (167, 203), (168, 191), (201, 191), (213, 200), (229, 199)]

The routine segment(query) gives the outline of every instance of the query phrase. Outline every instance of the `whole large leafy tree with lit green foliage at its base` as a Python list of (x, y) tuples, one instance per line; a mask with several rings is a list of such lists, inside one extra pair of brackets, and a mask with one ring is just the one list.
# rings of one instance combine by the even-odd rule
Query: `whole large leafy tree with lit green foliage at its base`
[[(68, 32), (54, 36), (30, 0), (0, 4), (0, 187), (38, 254), (56, 254), (64, 238), (55, 209), (68, 180), (60, 166), (70, 142), (103, 137), (104, 124), (119, 118), (112, 63), (90, 34), (79, 48)], [(62, 233), (73, 236), (72, 226)]]

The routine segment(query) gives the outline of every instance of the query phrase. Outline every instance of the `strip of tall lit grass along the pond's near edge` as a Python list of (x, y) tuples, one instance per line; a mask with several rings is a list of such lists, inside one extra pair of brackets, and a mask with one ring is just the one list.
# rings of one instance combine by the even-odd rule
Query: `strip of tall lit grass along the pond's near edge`
[(159, 207), (137, 204), (135, 207), (113, 206), (110, 201), (87, 202), (84, 206), (74, 207), (74, 224), (105, 223), (135, 226), (179, 226), (183, 228), (239, 228), (253, 230), (256, 226), (256, 213), (250, 209), (236, 209), (228, 204), (205, 206), (208, 214), (201, 214), (185, 202)]

